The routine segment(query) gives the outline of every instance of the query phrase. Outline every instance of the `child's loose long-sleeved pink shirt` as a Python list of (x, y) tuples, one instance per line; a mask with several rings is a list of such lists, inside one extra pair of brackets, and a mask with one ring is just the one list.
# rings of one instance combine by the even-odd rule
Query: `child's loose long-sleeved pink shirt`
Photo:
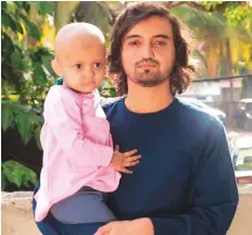
[(41, 129), (43, 162), (40, 189), (35, 195), (35, 221), (51, 206), (89, 186), (100, 191), (117, 188), (121, 174), (109, 166), (113, 144), (99, 92), (84, 95), (52, 86), (45, 101)]

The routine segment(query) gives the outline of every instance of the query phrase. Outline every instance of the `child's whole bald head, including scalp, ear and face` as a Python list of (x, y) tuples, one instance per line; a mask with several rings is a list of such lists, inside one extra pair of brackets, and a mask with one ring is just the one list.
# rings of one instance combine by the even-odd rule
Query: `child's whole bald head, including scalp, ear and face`
[(105, 72), (105, 44), (102, 32), (88, 23), (72, 23), (55, 37), (54, 72), (66, 86), (90, 92), (99, 87)]

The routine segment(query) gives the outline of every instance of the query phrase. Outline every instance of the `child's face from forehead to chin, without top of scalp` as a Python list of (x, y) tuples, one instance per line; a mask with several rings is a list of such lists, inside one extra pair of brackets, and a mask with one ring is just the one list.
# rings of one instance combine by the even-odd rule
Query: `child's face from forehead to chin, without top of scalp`
[(61, 47), (58, 63), (64, 84), (78, 92), (98, 88), (105, 75), (105, 48), (97, 38), (75, 38)]

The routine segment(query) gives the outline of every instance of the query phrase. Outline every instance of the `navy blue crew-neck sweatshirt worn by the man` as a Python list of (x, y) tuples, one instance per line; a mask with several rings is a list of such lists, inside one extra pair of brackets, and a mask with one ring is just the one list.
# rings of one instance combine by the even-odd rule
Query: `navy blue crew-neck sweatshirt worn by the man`
[(155, 235), (226, 234), (238, 190), (222, 123), (176, 98), (148, 114), (130, 112), (125, 99), (104, 110), (114, 144), (142, 157), (109, 196), (117, 219), (148, 217)]

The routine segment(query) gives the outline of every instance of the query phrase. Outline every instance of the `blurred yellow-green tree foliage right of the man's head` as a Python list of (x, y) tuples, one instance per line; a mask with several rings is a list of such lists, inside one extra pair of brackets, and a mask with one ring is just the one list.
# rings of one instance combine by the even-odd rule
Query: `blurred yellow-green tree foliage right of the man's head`
[[(238, 63), (252, 70), (252, 8), (248, 2), (167, 2), (165, 5), (193, 32), (198, 77), (239, 74)], [(240, 21), (240, 20), (241, 21)]]

